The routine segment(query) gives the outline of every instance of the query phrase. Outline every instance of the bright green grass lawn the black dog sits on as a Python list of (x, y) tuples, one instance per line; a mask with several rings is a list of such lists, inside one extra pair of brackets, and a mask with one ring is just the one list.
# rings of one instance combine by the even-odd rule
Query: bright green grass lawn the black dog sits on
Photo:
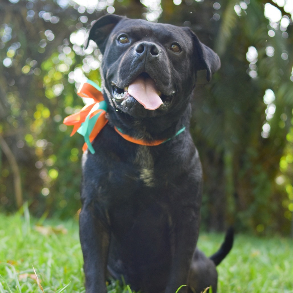
[[(202, 234), (199, 247), (211, 255), (223, 238)], [(0, 214), (0, 293), (85, 292), (82, 266), (77, 220)], [(232, 251), (217, 269), (219, 293), (293, 292), (293, 241), (236, 235)], [(108, 292), (131, 290), (113, 281)]]

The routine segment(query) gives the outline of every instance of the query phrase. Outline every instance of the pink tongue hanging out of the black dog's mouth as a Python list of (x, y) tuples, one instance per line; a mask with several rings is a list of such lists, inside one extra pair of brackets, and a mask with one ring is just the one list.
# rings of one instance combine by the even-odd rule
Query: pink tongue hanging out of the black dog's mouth
[(151, 78), (138, 77), (128, 87), (128, 93), (148, 110), (156, 110), (163, 104)]

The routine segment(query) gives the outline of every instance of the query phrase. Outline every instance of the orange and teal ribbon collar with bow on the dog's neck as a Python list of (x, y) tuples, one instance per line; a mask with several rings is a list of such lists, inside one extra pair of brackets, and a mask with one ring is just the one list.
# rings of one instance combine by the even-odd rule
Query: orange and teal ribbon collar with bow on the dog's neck
[[(64, 118), (63, 123), (65, 125), (73, 125), (73, 130), (70, 134), (72, 136), (76, 132), (84, 137), (84, 146), (82, 150), (85, 152), (86, 149), (94, 154), (95, 150), (92, 146), (92, 142), (103, 127), (108, 123), (108, 119), (105, 117), (107, 113), (107, 104), (104, 101), (103, 94), (101, 93), (101, 88), (91, 80), (87, 80), (81, 85), (77, 94), (82, 98), (91, 98), (91, 103), (87, 104), (79, 112), (74, 113), (70, 116)], [(154, 141), (145, 141), (143, 139), (136, 139), (124, 134), (117, 127), (114, 127), (116, 132), (120, 134), (124, 139), (133, 142), (135, 144), (145, 145), (145, 146), (156, 146), (164, 142), (169, 141), (173, 137), (177, 136), (185, 130), (185, 127), (181, 128), (173, 137), (169, 139), (160, 139)]]

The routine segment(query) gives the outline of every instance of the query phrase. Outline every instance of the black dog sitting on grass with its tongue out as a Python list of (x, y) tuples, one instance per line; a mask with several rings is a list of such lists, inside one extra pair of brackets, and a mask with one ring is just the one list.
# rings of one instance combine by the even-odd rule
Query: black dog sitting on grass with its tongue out
[[(202, 169), (189, 120), (197, 71), (205, 69), (209, 81), (219, 57), (189, 28), (117, 15), (98, 19), (88, 39), (103, 54), (109, 122), (93, 141), (96, 153), (82, 159), (86, 292), (107, 292), (107, 272), (142, 292), (175, 293), (185, 284), (204, 289), (191, 265)], [(167, 141), (136, 144), (114, 126), (145, 144)], [(207, 275), (204, 286), (216, 277)]]

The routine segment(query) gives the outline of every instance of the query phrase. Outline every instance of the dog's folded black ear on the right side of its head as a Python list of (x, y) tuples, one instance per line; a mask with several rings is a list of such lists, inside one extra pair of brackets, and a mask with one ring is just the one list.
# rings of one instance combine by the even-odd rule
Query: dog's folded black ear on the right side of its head
[(200, 42), (195, 33), (188, 28), (193, 39), (194, 50), (198, 56), (198, 64), (196, 64), (197, 70), (207, 70), (207, 81), (210, 81), (212, 74), (214, 74), (221, 66), (219, 56), (205, 44)]

